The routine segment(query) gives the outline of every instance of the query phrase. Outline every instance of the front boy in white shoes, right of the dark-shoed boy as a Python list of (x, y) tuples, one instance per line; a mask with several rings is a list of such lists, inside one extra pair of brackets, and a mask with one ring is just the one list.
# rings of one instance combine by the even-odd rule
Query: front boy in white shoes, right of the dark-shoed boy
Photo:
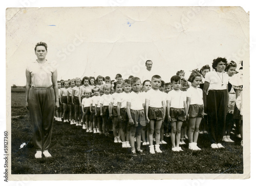
[(155, 131), (156, 136), (156, 152), (162, 153), (159, 148), (160, 142), (160, 129), (162, 121), (165, 117), (165, 97), (159, 90), (161, 86), (161, 76), (154, 75), (151, 81), (152, 88), (145, 94), (145, 118), (146, 122), (149, 123), (148, 139), (150, 141), (150, 153), (155, 154), (153, 145), (153, 134)]

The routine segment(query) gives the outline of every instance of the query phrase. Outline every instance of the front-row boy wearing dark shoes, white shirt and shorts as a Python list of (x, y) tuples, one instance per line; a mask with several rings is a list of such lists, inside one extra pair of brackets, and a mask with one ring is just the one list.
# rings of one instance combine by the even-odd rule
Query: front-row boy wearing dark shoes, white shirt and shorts
[(146, 126), (144, 103), (145, 99), (141, 96), (141, 82), (139, 77), (131, 79), (133, 91), (130, 93), (130, 99), (127, 101), (126, 111), (129, 118), (129, 125), (131, 126), (130, 142), (132, 147), (132, 154), (136, 155), (134, 137), (136, 134), (137, 152), (142, 154), (140, 149), (141, 143), (141, 128)]

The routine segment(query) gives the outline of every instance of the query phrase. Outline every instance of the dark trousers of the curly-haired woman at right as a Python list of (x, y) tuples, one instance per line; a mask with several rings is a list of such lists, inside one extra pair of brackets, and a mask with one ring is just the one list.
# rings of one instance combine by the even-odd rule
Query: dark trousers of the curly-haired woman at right
[(227, 113), (227, 90), (209, 90), (206, 100), (211, 143), (221, 143)]

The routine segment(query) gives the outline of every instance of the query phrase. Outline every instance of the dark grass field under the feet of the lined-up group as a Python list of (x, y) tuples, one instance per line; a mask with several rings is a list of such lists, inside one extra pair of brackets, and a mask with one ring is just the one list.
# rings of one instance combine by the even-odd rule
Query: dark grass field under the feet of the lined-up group
[[(234, 136), (233, 144), (223, 142), (225, 149), (213, 150), (208, 136), (200, 135), (202, 150), (195, 152), (188, 150), (188, 145), (182, 147), (183, 152), (172, 152), (170, 138), (165, 138), (168, 144), (160, 146), (162, 154), (150, 154), (148, 146), (142, 146), (145, 155), (132, 156), (131, 149), (113, 142), (113, 134), (89, 134), (82, 127), (60, 122), (53, 127), (49, 149), (53, 157), (35, 159), (24, 91), (12, 89), (11, 94), (12, 174), (243, 173), (241, 140)], [(28, 144), (19, 149), (24, 142)]]

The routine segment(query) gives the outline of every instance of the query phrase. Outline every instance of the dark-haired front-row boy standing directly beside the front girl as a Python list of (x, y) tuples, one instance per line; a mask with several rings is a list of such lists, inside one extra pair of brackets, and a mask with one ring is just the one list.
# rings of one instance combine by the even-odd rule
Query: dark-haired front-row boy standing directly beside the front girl
[[(186, 93), (180, 90), (181, 78), (178, 75), (170, 78), (170, 83), (173, 86), (173, 90), (168, 92), (167, 95), (167, 115), (172, 127), (170, 133), (170, 139), (172, 140), (173, 151), (183, 151), (179, 146), (180, 132), (183, 121), (186, 120), (187, 104)], [(175, 145), (176, 139), (176, 145)]]

